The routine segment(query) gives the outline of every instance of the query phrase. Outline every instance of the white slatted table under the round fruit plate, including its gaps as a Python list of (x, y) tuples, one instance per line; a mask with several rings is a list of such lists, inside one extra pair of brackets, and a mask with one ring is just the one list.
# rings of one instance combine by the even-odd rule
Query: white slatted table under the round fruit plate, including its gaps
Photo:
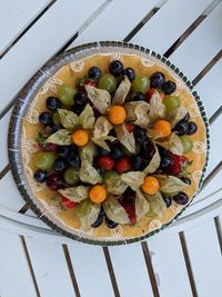
[[(0, 296), (222, 296), (222, 2), (0, 0)], [(193, 80), (211, 122), (204, 188), (170, 228), (102, 248), (52, 231), (28, 210), (7, 156), (14, 96), (52, 56), (94, 40), (165, 55)]]

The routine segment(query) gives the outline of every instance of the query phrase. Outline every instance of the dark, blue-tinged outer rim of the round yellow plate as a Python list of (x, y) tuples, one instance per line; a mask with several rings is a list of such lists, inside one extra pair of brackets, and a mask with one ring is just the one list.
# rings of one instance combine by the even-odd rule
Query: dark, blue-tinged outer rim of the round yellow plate
[[(182, 208), (180, 210), (180, 212), (176, 214), (173, 219), (171, 219), (167, 224), (163, 224), (160, 228), (152, 230), (152, 231), (150, 231), (145, 235), (142, 235), (142, 236), (138, 236), (134, 238), (118, 239), (115, 241), (114, 240), (107, 240), (107, 239), (104, 240), (104, 239), (100, 239), (100, 238), (97, 238), (97, 239), (83, 238), (83, 237), (80, 237), (78, 235), (73, 235), (67, 230), (63, 230), (61, 227), (59, 227), (57, 224), (54, 224), (52, 220), (50, 220), (47, 216), (42, 216), (41, 210), (37, 207), (34, 201), (29, 197), (29, 194), (27, 192), (27, 189), (26, 189), (26, 185), (23, 185), (22, 180), (20, 179), (21, 168), (17, 161), (18, 150), (11, 149), (11, 148), (18, 147), (18, 139), (16, 137), (14, 131), (18, 129), (18, 126), (20, 125), (20, 117), (18, 117), (18, 115), (19, 115), (19, 111), (23, 108), (22, 105), (24, 103), (24, 101), (22, 100), (22, 97), (26, 98), (27, 96), (29, 96), (30, 89), (33, 88), (36, 83), (38, 85), (38, 80), (42, 76), (44, 76), (46, 78), (50, 77), (48, 69), (51, 69), (51, 67), (56, 66), (59, 62), (61, 63), (61, 61), (65, 61), (65, 59), (68, 59), (70, 56), (72, 56), (79, 51), (89, 50), (90, 48), (98, 48), (98, 47), (101, 47), (101, 48), (102, 47), (115, 47), (115, 48), (122, 48), (122, 49), (124, 49), (124, 48), (125, 49), (133, 49), (133, 50), (138, 51), (138, 53), (142, 52), (142, 53), (150, 55), (150, 56), (154, 57), (155, 59), (160, 60), (161, 62), (163, 62), (164, 65), (167, 65), (171, 70), (173, 70), (183, 80), (185, 86), (191, 91), (193, 98), (195, 99), (200, 115), (201, 115), (201, 117), (203, 119), (203, 123), (205, 126), (205, 137), (206, 137), (205, 164), (204, 164), (204, 167), (202, 169), (202, 175), (201, 175), (196, 191), (192, 196), (192, 198), (190, 199), (189, 204), (184, 208)], [(17, 117), (14, 115), (17, 115)], [(26, 83), (26, 86), (19, 92), (19, 95), (17, 96), (17, 99), (16, 99), (16, 105), (13, 107), (13, 111), (12, 111), (10, 123), (9, 123), (9, 132), (8, 132), (9, 164), (11, 165), (11, 172), (12, 172), (13, 179), (16, 181), (16, 185), (17, 185), (22, 198), (29, 204), (30, 208), (38, 216), (38, 218), (40, 218), (42, 221), (44, 221), (53, 230), (56, 230), (56, 231), (58, 231), (58, 232), (62, 234), (63, 236), (67, 236), (71, 239), (74, 239), (74, 240), (78, 240), (81, 242), (85, 242), (85, 244), (90, 244), (90, 245), (120, 246), (120, 245), (125, 245), (125, 244), (133, 244), (137, 241), (141, 241), (143, 239), (150, 238), (151, 236), (160, 232), (161, 230), (163, 230), (164, 228), (170, 226), (172, 222), (174, 222), (183, 214), (183, 211), (190, 206), (193, 198), (198, 195), (198, 192), (201, 188), (201, 185), (203, 182), (204, 174), (206, 171), (206, 166), (208, 166), (208, 161), (209, 161), (209, 154), (210, 154), (210, 129), (209, 129), (209, 127), (210, 127), (210, 123), (209, 123), (209, 120), (208, 120), (208, 117), (205, 113), (205, 109), (203, 107), (203, 103), (200, 99), (198, 91), (195, 90), (192, 82), (186, 78), (186, 76), (184, 76), (183, 72), (178, 67), (175, 67), (168, 58), (165, 58), (164, 56), (161, 56), (160, 53), (157, 53), (155, 51), (152, 51), (150, 49), (145, 49), (141, 46), (128, 43), (128, 42), (123, 42), (123, 41), (90, 42), (90, 43), (81, 44), (81, 46), (75, 47), (75, 48), (71, 48), (70, 50), (64, 51), (64, 52), (53, 57), (52, 59), (50, 59), (46, 65), (43, 65), (40, 68), (40, 70), (38, 70), (33, 75), (33, 77)]]

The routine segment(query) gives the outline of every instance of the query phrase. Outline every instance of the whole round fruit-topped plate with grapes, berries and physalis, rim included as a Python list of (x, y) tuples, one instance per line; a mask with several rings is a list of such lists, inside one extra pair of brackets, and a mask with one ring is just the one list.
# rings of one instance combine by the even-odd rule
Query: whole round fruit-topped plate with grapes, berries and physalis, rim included
[(164, 57), (121, 42), (50, 60), (19, 96), (9, 131), (23, 198), (53, 229), (99, 245), (141, 240), (196, 194), (208, 119)]

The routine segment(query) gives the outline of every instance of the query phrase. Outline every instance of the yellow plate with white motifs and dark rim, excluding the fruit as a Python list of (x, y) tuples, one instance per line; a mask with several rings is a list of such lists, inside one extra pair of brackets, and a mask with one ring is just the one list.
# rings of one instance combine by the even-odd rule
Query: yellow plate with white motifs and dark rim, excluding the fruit
[(60, 208), (53, 199), (53, 192), (33, 179), (34, 152), (38, 150), (36, 137), (40, 129), (39, 113), (44, 110), (46, 98), (57, 93), (63, 82), (73, 85), (77, 78), (84, 76), (91, 66), (108, 71), (111, 60), (122, 60), (124, 67), (132, 67), (137, 73), (151, 75), (164, 72), (168, 79), (176, 82), (176, 93), (182, 105), (188, 107), (193, 121), (199, 126), (192, 136), (193, 150), (188, 157), (191, 166), (192, 185), (186, 190), (189, 204), (196, 195), (203, 181), (209, 158), (209, 122), (203, 105), (188, 78), (167, 58), (139, 46), (124, 42), (94, 42), (63, 52), (44, 65), (24, 86), (13, 109), (8, 139), (9, 160), (16, 184), (32, 210), (54, 230), (70, 238), (94, 245), (121, 245), (142, 240), (165, 228), (188, 207), (172, 204), (163, 217), (144, 217), (135, 226), (118, 226), (109, 229), (104, 224), (84, 232), (74, 210)]

